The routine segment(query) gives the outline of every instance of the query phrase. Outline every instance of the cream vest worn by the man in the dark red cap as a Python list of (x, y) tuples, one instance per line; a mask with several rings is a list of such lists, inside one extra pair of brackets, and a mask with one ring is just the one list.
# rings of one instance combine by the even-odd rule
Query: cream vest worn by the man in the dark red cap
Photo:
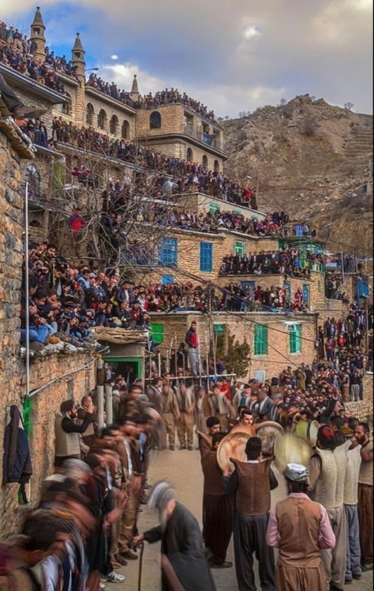
[(315, 453), (321, 458), (321, 472), (316, 488), (310, 496), (313, 501), (320, 503), (326, 509), (340, 507), (343, 505), (347, 450), (344, 446), (340, 446), (334, 452), (317, 449)]

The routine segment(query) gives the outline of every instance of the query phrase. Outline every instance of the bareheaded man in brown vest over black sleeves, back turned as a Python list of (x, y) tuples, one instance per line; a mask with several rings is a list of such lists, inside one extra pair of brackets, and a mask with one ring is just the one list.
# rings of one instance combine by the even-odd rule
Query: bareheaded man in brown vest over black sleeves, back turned
[(253, 552), (263, 591), (275, 591), (274, 551), (266, 544), (271, 505), (270, 491), (278, 481), (271, 470), (272, 458), (262, 461), (261, 439), (251, 437), (245, 447), (247, 462), (231, 459), (235, 470), (224, 473), (227, 495), (236, 495), (234, 551), (239, 591), (255, 591)]

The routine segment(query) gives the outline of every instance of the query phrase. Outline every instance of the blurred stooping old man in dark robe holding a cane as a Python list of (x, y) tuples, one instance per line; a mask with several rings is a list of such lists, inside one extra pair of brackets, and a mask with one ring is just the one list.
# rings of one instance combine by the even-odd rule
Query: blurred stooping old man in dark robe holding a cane
[(160, 525), (136, 535), (134, 544), (161, 541), (162, 591), (216, 591), (203, 537), (196, 518), (176, 500), (168, 482), (157, 482), (149, 492), (149, 508), (158, 509)]

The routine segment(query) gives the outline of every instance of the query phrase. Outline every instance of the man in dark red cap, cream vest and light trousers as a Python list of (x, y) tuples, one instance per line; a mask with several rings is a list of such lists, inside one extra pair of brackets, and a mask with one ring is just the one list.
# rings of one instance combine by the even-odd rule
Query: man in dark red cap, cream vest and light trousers
[(347, 445), (336, 447), (334, 431), (322, 426), (317, 433), (317, 449), (310, 460), (311, 499), (324, 506), (329, 515), (336, 538), (332, 550), (322, 551), (322, 560), (327, 573), (327, 583), (333, 591), (344, 587), (347, 556), (347, 522), (344, 511), (344, 482), (347, 470)]

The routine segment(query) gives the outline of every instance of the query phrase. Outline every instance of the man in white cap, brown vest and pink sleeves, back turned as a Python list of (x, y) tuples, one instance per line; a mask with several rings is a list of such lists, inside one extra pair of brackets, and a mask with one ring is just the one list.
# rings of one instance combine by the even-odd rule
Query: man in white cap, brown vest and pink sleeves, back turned
[(321, 549), (335, 545), (329, 516), (323, 505), (306, 494), (305, 466), (288, 464), (284, 476), (289, 494), (271, 509), (266, 532), (266, 543), (279, 548), (277, 591), (324, 591), (326, 574)]

